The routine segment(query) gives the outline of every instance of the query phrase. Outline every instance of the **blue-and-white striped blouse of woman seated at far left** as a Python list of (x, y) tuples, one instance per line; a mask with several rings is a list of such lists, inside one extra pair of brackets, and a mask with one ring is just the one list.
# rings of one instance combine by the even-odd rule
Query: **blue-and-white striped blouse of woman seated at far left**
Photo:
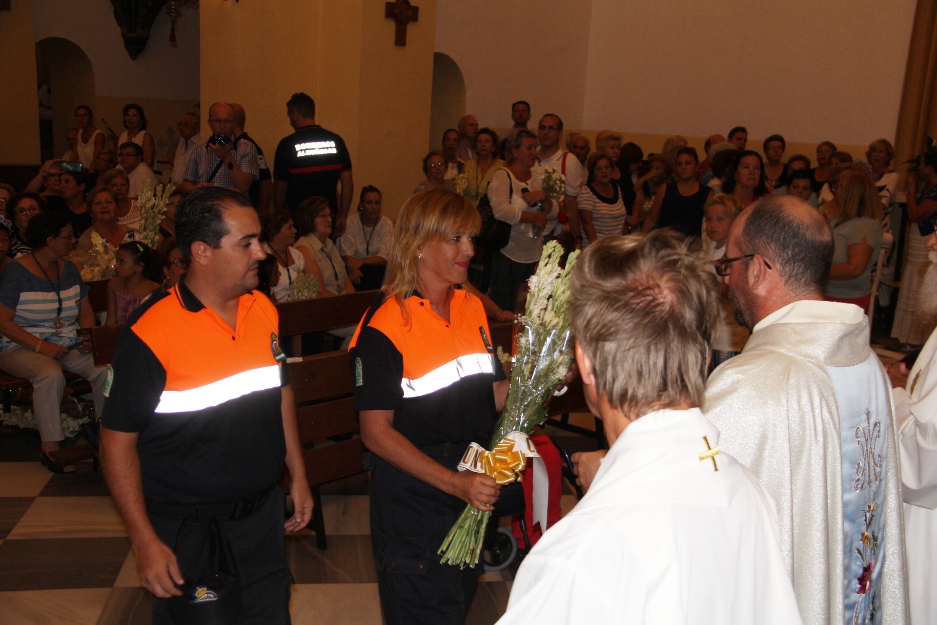
[[(58, 297), (62, 297), (63, 327), (55, 329), (52, 321), (58, 310)], [(10, 262), (0, 274), (0, 304), (14, 311), (13, 322), (31, 335), (44, 341), (70, 348), (82, 342), (78, 336), (78, 315), (82, 307), (82, 298), (87, 295), (88, 287), (82, 281), (82, 275), (69, 260), (65, 261), (65, 271), (58, 280), (38, 277), (26, 269), (21, 262)], [(0, 335), (0, 351), (20, 347), (19, 344)]]

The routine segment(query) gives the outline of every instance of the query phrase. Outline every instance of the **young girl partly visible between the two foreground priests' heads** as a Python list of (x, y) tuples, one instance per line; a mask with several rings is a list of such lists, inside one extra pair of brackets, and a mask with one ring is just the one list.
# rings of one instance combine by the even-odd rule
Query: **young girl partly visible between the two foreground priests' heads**
[[(729, 238), (732, 222), (742, 211), (741, 202), (736, 196), (721, 193), (706, 201), (706, 235), (709, 238), (709, 260), (714, 262), (725, 258), (725, 242)], [(716, 262), (715, 267), (719, 267)], [(717, 272), (718, 273), (718, 272)], [(711, 372), (718, 365), (729, 360), (745, 347), (749, 340), (749, 331), (738, 325), (733, 311), (732, 300), (723, 286), (719, 329), (712, 340), (712, 358), (709, 361)]]

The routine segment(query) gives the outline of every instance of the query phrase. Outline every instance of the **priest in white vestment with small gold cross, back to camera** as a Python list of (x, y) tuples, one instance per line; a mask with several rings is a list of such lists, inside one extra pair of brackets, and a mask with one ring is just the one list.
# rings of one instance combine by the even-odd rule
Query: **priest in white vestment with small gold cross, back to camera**
[(573, 269), (576, 360), (611, 449), (499, 623), (801, 622), (774, 502), (698, 408), (719, 285), (686, 246), (606, 237)]

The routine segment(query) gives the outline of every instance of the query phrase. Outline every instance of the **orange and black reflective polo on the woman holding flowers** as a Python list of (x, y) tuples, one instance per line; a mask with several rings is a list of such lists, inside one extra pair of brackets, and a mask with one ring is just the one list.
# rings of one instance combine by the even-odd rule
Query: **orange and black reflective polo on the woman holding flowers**
[(488, 443), (497, 419), (492, 384), (504, 379), (481, 300), (454, 289), (450, 322), (415, 293), (364, 315), (351, 339), (355, 408), (394, 410), (394, 429), (417, 447)]

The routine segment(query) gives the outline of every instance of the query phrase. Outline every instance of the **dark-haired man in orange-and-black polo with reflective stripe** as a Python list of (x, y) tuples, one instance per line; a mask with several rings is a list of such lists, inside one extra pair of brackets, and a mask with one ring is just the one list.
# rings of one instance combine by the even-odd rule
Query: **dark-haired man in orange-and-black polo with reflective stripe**
[[(284, 461), (296, 508), (287, 529), (305, 526), (312, 499), (276, 308), (253, 290), (259, 233), (245, 196), (189, 193), (176, 217), (188, 273), (135, 311), (114, 357), (101, 459), (156, 596), (155, 625), (209, 622), (205, 612), (222, 607), (239, 625), (290, 622)], [(205, 561), (200, 536), (233, 566)], [(206, 583), (205, 572), (231, 573), (231, 584)]]

